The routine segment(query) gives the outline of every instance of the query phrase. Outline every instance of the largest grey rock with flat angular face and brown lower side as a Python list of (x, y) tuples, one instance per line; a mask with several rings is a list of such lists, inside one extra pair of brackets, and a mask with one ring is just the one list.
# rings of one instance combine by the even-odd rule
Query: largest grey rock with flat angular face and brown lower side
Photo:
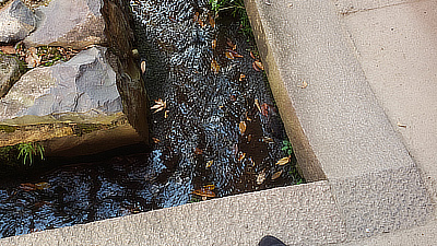
[(0, 126), (8, 127), (0, 128), (0, 147), (46, 141), (49, 155), (66, 156), (144, 141), (123, 113), (121, 94), (130, 92), (118, 91), (117, 63), (107, 48), (93, 47), (24, 74), (0, 99)]

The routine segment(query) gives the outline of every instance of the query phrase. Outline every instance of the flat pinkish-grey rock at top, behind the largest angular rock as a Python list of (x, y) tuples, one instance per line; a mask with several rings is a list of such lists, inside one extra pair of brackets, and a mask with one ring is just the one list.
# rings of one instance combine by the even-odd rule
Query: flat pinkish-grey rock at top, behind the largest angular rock
[(63, 46), (83, 49), (105, 44), (105, 21), (101, 0), (51, 0), (35, 9), (40, 19), (34, 33), (24, 39), (27, 47)]

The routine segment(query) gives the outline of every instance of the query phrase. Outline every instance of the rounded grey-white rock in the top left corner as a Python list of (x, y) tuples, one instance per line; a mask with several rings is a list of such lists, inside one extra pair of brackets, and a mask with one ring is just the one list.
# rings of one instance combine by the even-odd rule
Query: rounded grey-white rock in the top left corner
[(0, 9), (0, 43), (14, 43), (35, 30), (35, 14), (21, 1), (11, 1)]

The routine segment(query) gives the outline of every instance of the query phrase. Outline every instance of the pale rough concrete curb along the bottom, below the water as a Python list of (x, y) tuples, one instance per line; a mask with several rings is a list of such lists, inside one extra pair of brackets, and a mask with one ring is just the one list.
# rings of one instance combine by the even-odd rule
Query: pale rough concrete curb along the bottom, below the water
[(328, 181), (244, 194), (0, 239), (0, 245), (288, 245), (345, 241)]

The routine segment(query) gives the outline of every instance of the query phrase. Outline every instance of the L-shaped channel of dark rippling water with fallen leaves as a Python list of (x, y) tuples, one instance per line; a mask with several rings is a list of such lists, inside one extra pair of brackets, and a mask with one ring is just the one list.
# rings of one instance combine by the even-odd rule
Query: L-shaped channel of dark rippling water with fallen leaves
[(130, 4), (151, 104), (165, 102), (152, 150), (3, 178), (0, 237), (300, 181), (293, 156), (276, 165), (286, 134), (237, 20), (208, 0)]

